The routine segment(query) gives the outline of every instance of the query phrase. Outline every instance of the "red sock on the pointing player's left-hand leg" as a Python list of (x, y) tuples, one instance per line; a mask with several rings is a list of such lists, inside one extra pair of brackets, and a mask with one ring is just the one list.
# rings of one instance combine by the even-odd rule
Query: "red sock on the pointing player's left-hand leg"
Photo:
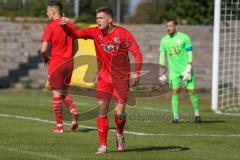
[(97, 130), (100, 146), (107, 146), (107, 134), (108, 134), (108, 117), (98, 116), (97, 118)]

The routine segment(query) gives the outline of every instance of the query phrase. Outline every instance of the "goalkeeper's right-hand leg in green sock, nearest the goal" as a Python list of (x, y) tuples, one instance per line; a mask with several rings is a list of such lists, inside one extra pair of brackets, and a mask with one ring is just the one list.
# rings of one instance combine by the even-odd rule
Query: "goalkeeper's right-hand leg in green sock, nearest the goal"
[(199, 111), (199, 96), (198, 93), (195, 89), (196, 86), (196, 78), (195, 75), (192, 75), (192, 79), (189, 81), (185, 81), (185, 86), (187, 88), (190, 100), (192, 102), (192, 106), (194, 109), (194, 115), (195, 115), (195, 122), (196, 123), (201, 123), (201, 118), (200, 118), (200, 111)]

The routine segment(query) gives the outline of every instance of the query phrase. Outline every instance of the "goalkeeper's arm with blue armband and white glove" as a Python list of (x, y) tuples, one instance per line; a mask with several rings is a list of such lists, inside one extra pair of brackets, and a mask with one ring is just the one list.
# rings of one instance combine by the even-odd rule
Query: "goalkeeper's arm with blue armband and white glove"
[(185, 50), (187, 53), (187, 68), (185, 71), (182, 73), (183, 80), (191, 80), (191, 71), (192, 71), (192, 57), (193, 57), (193, 52), (192, 52), (192, 42), (189, 36), (186, 36), (185, 39)]

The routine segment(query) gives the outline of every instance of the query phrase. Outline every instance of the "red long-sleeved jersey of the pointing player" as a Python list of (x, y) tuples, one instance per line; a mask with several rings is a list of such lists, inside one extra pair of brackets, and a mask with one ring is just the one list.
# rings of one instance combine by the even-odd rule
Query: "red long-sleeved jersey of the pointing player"
[(115, 26), (110, 34), (104, 34), (98, 27), (73, 30), (64, 26), (73, 38), (93, 39), (98, 62), (98, 79), (107, 82), (128, 80), (130, 61), (128, 51), (135, 59), (135, 73), (140, 74), (142, 55), (135, 39), (126, 29)]

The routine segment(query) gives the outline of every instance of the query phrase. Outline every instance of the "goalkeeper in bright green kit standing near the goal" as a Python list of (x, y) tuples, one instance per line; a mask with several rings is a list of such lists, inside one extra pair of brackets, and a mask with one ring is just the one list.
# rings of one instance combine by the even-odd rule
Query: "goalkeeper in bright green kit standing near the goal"
[(167, 32), (160, 41), (160, 82), (166, 81), (166, 75), (162, 72), (161, 65), (165, 65), (167, 57), (169, 68), (169, 84), (172, 88), (172, 112), (173, 123), (179, 122), (179, 92), (181, 81), (189, 93), (194, 113), (195, 122), (201, 123), (199, 113), (199, 97), (195, 90), (196, 78), (192, 68), (192, 43), (187, 34), (178, 32), (177, 21), (170, 19), (167, 21)]

